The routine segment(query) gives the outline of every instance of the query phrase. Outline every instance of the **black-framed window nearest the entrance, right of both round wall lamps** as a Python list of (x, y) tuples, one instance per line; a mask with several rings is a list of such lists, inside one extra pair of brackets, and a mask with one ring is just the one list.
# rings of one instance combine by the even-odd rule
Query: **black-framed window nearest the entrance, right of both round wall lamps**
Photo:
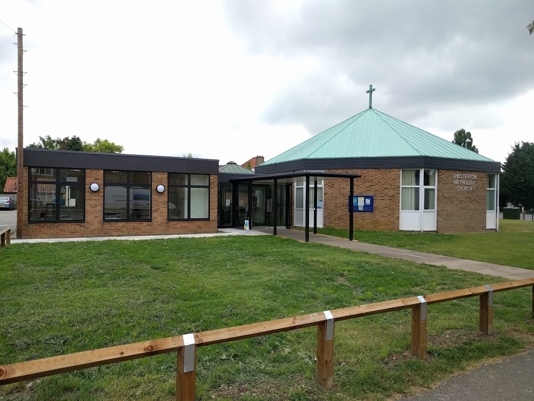
[(169, 220), (209, 220), (209, 174), (169, 173)]

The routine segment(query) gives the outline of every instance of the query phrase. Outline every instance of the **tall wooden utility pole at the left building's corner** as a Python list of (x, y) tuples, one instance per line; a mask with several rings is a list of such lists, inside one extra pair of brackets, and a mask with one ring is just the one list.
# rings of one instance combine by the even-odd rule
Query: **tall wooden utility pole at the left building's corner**
[[(24, 163), (23, 163), (23, 155), (22, 155), (22, 148), (24, 147), (24, 138), (22, 135), (22, 112), (24, 106), (22, 105), (22, 91), (23, 91), (23, 83), (22, 83), (22, 76), (24, 73), (22, 72), (22, 54), (24, 53), (24, 50), (22, 49), (22, 28), (17, 28), (17, 57), (18, 57), (18, 71), (17, 71), (17, 97), (18, 97), (18, 136), (17, 136), (17, 201), (19, 199), (25, 199), (24, 192), (26, 191), (25, 186), (23, 186), (23, 170), (24, 170)], [(23, 217), (25, 215), (25, 211), (27, 208), (27, 203), (23, 202), (23, 204), (19, 205), (17, 202), (17, 238), (22, 238), (22, 225), (23, 225)]]

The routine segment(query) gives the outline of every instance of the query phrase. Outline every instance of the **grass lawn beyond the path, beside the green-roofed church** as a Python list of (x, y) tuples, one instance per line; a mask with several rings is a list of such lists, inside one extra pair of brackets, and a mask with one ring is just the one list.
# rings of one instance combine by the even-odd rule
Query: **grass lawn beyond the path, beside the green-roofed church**
[[(348, 230), (318, 228), (317, 232), (336, 237), (349, 237)], [(498, 233), (435, 234), (356, 230), (354, 239), (393, 248), (534, 269), (534, 222), (532, 221), (499, 220)]]

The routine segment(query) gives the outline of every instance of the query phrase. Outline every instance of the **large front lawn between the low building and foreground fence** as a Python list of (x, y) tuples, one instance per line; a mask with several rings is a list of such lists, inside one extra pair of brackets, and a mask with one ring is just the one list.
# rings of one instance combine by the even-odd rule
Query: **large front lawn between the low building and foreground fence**
[[(13, 244), (0, 250), (0, 365), (500, 281), (273, 236)], [(328, 391), (315, 327), (201, 347), (197, 399), (410, 394), (533, 345), (531, 296), (495, 294), (491, 337), (477, 298), (430, 305), (425, 361), (409, 354), (409, 310), (336, 323)], [(0, 399), (172, 400), (175, 377), (171, 353), (4, 385)]]

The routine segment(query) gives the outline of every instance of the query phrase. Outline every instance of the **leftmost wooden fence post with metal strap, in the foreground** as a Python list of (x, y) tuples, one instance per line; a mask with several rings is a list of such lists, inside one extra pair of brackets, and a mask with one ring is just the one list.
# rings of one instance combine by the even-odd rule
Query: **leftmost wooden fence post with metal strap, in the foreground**
[(197, 345), (193, 334), (184, 334), (184, 346), (178, 350), (176, 364), (176, 401), (195, 400)]

